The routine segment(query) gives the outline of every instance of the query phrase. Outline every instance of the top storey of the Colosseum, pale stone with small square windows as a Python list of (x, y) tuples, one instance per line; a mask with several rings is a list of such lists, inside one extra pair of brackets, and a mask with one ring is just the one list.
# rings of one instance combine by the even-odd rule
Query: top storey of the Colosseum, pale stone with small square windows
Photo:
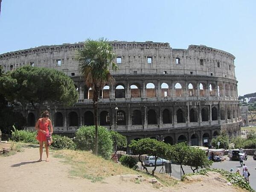
[[(169, 43), (111, 41), (119, 70), (113, 74), (204, 75), (236, 79), (235, 57), (225, 51), (206, 46), (189, 45), (188, 49), (172, 49)], [(0, 55), (5, 71), (30, 64), (79, 75), (75, 61), (83, 43), (41, 46)]]

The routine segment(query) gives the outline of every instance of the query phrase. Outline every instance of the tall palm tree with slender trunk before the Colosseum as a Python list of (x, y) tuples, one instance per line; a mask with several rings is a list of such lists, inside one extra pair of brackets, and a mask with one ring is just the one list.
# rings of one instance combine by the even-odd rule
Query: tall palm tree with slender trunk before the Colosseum
[(79, 69), (85, 78), (87, 87), (93, 90), (93, 110), (95, 125), (95, 150), (98, 154), (98, 99), (102, 88), (114, 83), (114, 78), (109, 72), (109, 67), (113, 71), (117, 70), (117, 65), (113, 62), (115, 54), (107, 39), (98, 40), (87, 39), (84, 48), (76, 53), (76, 60), (79, 61)]

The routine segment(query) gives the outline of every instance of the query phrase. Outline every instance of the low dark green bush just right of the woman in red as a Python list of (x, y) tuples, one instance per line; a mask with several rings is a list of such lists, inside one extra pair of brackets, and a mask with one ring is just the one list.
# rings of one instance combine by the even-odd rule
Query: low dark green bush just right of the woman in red
[(66, 136), (60, 136), (60, 135), (52, 135), (52, 147), (59, 148), (59, 149), (71, 149), (74, 150), (75, 143), (72, 139)]

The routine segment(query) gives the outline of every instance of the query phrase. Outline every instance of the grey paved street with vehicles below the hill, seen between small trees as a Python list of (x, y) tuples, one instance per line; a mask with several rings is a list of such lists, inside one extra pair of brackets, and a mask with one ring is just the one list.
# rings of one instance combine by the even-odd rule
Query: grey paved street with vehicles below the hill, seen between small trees
[[(252, 156), (248, 156), (248, 159), (245, 161), (244, 164), (248, 167), (248, 171), (250, 172), (250, 185), (253, 187), (253, 189), (256, 190), (256, 161), (253, 160)], [(230, 171), (231, 168), (234, 169), (234, 172), (236, 172), (237, 168), (240, 169), (240, 173), (242, 174), (242, 167), (240, 167), (239, 161), (222, 161), (222, 162), (215, 162), (211, 166), (212, 168), (218, 168), (218, 169), (224, 169), (227, 171)], [(153, 167), (154, 168), (154, 167)], [(152, 167), (147, 167), (148, 171), (153, 170)], [(162, 166), (157, 166), (156, 172), (160, 172), (160, 169)], [(163, 166), (164, 168), (164, 166)], [(185, 173), (192, 173), (192, 170), (189, 166), (183, 166)], [(161, 171), (162, 172), (162, 171)], [(172, 164), (172, 176), (177, 177), (180, 179), (180, 166)]]

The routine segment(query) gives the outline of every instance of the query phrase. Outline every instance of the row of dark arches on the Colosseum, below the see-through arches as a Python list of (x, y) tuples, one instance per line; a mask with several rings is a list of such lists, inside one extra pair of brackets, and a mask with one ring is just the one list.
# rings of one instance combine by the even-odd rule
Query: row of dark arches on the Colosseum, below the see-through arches
[[(233, 111), (231, 111), (233, 109)], [(210, 111), (211, 110), (211, 113)], [(200, 113), (199, 113), (200, 112)], [(226, 113), (227, 112), (227, 113)], [(161, 121), (163, 124), (170, 124), (170, 123), (186, 123), (189, 122), (199, 122), (200, 117), (202, 122), (208, 122), (209, 120), (217, 121), (219, 118), (220, 120), (232, 119), (237, 117), (237, 113), (235, 108), (227, 106), (227, 110), (225, 108), (221, 108), (220, 115), (218, 114), (217, 107), (213, 106), (211, 109), (208, 106), (201, 108), (201, 111), (198, 111), (198, 108), (190, 106), (189, 109), (189, 117), (187, 116), (187, 111), (178, 108), (175, 113), (169, 108), (163, 109), (161, 111)], [(211, 116), (210, 116), (211, 114)], [(148, 125), (157, 125), (160, 124), (159, 122), (159, 115), (155, 109), (149, 109), (146, 113), (146, 117), (140, 110), (133, 110), (131, 111), (131, 125), (143, 125), (143, 120), (146, 119)], [(200, 116), (201, 115), (201, 116)], [(125, 113), (123, 110), (116, 111), (116, 114), (110, 114), (108, 111), (101, 111), (99, 113), (99, 124), (100, 125), (111, 125), (114, 124), (111, 121), (112, 118), (116, 118), (115, 122), (117, 125), (127, 125), (128, 121), (127, 118), (128, 114)], [(188, 118), (187, 118), (188, 117)], [(64, 116), (61, 112), (56, 112), (53, 116), (53, 124), (56, 127), (63, 127), (64, 126)], [(176, 119), (176, 120), (175, 120)], [(79, 115), (75, 111), (68, 113), (67, 115), (67, 126), (79, 126)], [(111, 123), (112, 122), (112, 123)], [(94, 115), (92, 111), (86, 111), (83, 114), (83, 125), (94, 125)], [(35, 126), (35, 115), (33, 113), (28, 114), (28, 126)]]

